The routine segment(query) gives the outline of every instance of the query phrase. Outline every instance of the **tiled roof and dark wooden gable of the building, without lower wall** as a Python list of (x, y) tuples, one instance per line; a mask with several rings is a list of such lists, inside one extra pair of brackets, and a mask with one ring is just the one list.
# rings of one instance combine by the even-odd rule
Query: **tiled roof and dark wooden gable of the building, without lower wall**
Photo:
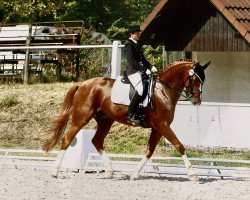
[(168, 51), (249, 51), (250, 0), (161, 0), (141, 29)]

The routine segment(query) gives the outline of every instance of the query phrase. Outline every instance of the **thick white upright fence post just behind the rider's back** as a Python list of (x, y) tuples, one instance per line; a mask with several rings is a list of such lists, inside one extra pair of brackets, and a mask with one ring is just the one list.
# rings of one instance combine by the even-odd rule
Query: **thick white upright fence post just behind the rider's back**
[(121, 73), (121, 41), (115, 40), (112, 45), (111, 78), (116, 78)]

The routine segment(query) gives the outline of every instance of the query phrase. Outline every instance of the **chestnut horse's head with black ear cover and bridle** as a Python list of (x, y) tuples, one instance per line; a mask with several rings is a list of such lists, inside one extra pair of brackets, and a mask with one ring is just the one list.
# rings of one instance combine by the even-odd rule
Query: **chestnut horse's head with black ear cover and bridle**
[(186, 98), (189, 99), (193, 105), (200, 105), (202, 99), (202, 86), (205, 82), (205, 69), (211, 61), (205, 65), (195, 63), (185, 74), (185, 90)]

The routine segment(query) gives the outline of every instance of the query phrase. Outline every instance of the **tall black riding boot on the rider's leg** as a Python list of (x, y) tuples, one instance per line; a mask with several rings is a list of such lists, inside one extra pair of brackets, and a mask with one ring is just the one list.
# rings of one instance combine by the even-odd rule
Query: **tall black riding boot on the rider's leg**
[(128, 108), (128, 115), (127, 115), (128, 123), (131, 123), (131, 124), (139, 124), (140, 123), (139, 119), (134, 118), (135, 112), (137, 110), (137, 106), (140, 103), (140, 101), (141, 101), (141, 96), (136, 91), (131, 99), (131, 102), (130, 102), (130, 105)]

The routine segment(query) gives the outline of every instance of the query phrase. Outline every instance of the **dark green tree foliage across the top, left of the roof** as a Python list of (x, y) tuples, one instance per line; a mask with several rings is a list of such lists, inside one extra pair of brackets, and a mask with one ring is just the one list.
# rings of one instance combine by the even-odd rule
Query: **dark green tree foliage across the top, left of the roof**
[(122, 37), (129, 24), (140, 24), (158, 0), (0, 0), (6, 23), (83, 20), (86, 28)]

